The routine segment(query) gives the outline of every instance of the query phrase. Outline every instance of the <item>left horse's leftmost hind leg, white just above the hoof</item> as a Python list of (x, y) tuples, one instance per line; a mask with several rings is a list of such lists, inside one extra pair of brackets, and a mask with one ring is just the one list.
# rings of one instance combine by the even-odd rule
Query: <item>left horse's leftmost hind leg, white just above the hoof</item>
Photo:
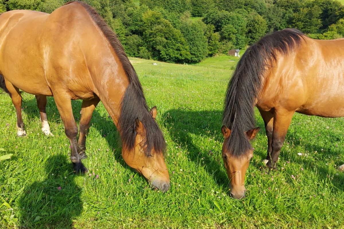
[(14, 87), (12, 83), (5, 80), (5, 84), (6, 88), (11, 93), (12, 103), (15, 107), (15, 111), (17, 112), (17, 135), (19, 137), (26, 136), (26, 131), (24, 129), (24, 123), (21, 114), (22, 96), (20, 95), (19, 89)]

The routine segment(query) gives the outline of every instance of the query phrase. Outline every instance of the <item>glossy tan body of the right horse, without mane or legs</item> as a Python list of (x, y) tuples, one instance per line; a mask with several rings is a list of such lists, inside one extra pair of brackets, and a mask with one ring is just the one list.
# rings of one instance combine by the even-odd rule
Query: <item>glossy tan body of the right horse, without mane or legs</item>
[(278, 57), (258, 107), (324, 117), (344, 116), (344, 39), (305, 41)]

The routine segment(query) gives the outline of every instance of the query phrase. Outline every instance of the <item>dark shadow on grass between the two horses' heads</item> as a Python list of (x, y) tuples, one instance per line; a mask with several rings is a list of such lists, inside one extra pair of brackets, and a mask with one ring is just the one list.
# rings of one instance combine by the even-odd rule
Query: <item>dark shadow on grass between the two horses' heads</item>
[[(203, 140), (223, 141), (221, 133), (222, 111), (189, 111), (185, 108), (177, 108), (166, 111), (162, 115), (164, 127), (168, 130), (171, 139), (176, 144), (183, 144), (188, 151), (187, 157), (202, 167), (213, 177), (219, 186), (226, 187), (229, 184), (224, 167), (221, 151), (218, 149), (204, 148), (197, 144)], [(202, 144), (202, 145), (206, 145)]]

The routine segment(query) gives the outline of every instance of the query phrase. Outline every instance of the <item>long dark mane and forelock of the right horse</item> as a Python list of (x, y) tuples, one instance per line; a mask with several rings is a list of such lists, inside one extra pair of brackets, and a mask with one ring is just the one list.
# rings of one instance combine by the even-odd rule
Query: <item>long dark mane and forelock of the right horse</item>
[(227, 150), (239, 157), (251, 148), (245, 131), (255, 128), (254, 105), (267, 70), (277, 55), (288, 55), (297, 48), (305, 35), (295, 29), (284, 29), (266, 35), (249, 47), (238, 62), (226, 92), (223, 124), (231, 134)]

